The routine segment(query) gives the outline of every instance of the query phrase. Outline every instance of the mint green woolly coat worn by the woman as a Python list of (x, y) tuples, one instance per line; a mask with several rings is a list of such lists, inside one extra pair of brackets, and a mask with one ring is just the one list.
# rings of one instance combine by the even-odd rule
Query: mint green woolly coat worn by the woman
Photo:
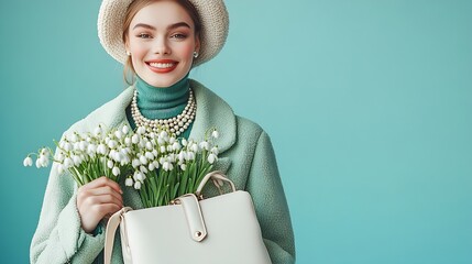
[[(238, 117), (221, 98), (190, 80), (197, 100), (197, 114), (190, 139), (202, 140), (208, 128), (220, 132), (217, 169), (223, 170), (238, 189), (252, 196), (265, 245), (274, 264), (295, 263), (294, 233), (287, 202), (278, 175), (268, 135), (257, 124)], [(70, 127), (89, 132), (105, 123), (108, 128), (128, 123), (125, 108), (133, 97), (129, 87), (113, 100), (101, 106)], [(124, 179), (123, 179), (124, 180)], [(120, 183), (125, 206), (142, 208), (138, 193)], [(208, 185), (205, 194), (216, 195)], [(43, 208), (34, 233), (30, 257), (32, 263), (101, 263), (105, 232), (86, 233), (80, 227), (76, 206), (77, 186), (69, 175), (58, 175), (53, 165), (44, 195)], [(209, 194), (209, 195), (208, 195)], [(101, 227), (103, 230), (103, 227)], [(122, 263), (120, 238), (116, 235), (112, 263)]]

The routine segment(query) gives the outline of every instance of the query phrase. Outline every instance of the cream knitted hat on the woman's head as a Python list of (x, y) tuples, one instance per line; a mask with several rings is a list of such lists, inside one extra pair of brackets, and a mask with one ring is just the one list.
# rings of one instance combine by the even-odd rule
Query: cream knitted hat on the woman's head
[[(124, 64), (127, 50), (122, 41), (127, 9), (133, 0), (103, 0), (98, 13), (98, 37), (105, 51)], [(198, 66), (213, 58), (228, 37), (229, 15), (223, 0), (188, 0), (194, 4), (201, 22), (199, 56), (194, 59)]]

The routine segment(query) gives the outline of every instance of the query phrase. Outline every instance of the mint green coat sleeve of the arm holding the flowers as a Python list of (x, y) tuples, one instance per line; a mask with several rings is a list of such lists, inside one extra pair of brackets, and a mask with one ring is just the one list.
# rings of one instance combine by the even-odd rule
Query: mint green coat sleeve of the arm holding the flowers
[(68, 173), (51, 169), (40, 221), (30, 249), (31, 263), (92, 263), (103, 249), (105, 233), (81, 229), (77, 187)]

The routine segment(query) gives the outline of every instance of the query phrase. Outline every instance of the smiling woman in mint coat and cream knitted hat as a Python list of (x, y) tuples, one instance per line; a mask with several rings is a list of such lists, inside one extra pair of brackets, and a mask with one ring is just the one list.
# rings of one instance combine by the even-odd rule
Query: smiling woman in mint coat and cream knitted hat
[[(125, 73), (131, 70), (132, 85), (64, 134), (91, 131), (100, 123), (135, 128), (143, 117), (171, 119), (186, 109), (188, 119), (176, 122), (176, 133), (198, 140), (208, 128), (220, 131), (217, 168), (238, 189), (251, 194), (272, 262), (294, 263), (290, 218), (270, 138), (257, 124), (235, 116), (209, 89), (188, 79), (189, 70), (211, 59), (226, 42), (224, 3), (105, 0), (98, 26), (106, 51), (125, 65)], [(101, 177), (77, 189), (73, 178), (58, 175), (53, 165), (31, 244), (31, 262), (100, 262), (106, 222), (102, 220), (123, 205), (142, 208), (136, 191), (123, 186), (124, 183)], [(122, 263), (119, 246), (118, 241), (113, 263)]]

